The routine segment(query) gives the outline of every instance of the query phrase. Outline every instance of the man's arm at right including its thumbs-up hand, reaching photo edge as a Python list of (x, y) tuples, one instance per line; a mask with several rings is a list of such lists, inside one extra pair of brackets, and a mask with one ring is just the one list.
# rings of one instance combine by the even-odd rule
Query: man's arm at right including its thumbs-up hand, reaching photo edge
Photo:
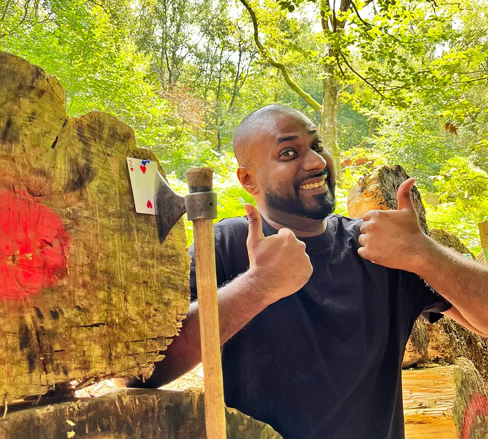
[(410, 199), (414, 179), (398, 189), (398, 210), (363, 215), (358, 253), (371, 262), (416, 273), (452, 303), (445, 314), (488, 334), (488, 266), (465, 259), (427, 237)]

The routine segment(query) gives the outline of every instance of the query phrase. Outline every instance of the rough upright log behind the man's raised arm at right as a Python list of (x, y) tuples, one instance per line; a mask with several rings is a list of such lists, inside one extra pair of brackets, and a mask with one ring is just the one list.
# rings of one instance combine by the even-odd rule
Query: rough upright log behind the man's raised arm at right
[[(371, 209), (396, 209), (396, 192), (407, 178), (407, 173), (400, 166), (382, 166), (366, 175), (349, 192), (349, 215), (360, 218)], [(422, 199), (415, 187), (412, 189), (412, 200), (422, 227), (433, 239), (460, 253), (470, 253), (468, 247), (452, 233), (428, 229)], [(420, 318), (415, 322), (408, 340), (403, 366), (410, 367), (426, 360), (452, 363), (457, 357), (473, 361), (482, 377), (488, 381), (488, 339), (468, 331), (447, 317), (435, 324)]]

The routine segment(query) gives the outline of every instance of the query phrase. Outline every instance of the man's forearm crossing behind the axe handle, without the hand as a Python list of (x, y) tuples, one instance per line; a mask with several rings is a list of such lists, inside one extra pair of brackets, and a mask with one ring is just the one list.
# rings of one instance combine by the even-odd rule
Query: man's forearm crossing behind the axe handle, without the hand
[[(264, 286), (247, 272), (217, 292), (221, 345), (241, 330), (269, 303), (264, 300)], [(151, 377), (144, 383), (138, 380), (134, 387), (160, 387), (188, 372), (201, 361), (198, 302), (190, 304), (178, 337), (164, 351), (165, 358), (155, 364)]]

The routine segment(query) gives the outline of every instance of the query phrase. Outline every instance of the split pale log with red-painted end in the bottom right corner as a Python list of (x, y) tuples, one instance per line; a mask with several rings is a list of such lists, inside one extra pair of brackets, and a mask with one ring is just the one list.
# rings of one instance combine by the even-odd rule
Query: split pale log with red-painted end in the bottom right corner
[(488, 393), (473, 363), (404, 370), (406, 439), (488, 438)]

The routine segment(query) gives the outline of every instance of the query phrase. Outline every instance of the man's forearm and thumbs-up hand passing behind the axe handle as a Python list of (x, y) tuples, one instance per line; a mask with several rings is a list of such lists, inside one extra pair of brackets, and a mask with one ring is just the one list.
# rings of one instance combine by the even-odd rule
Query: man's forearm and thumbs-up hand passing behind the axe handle
[[(305, 244), (289, 229), (264, 237), (261, 215), (251, 204), (244, 204), (249, 223), (247, 253), (249, 269), (217, 292), (221, 345), (269, 304), (294, 294), (312, 275)], [(201, 361), (198, 302), (190, 305), (178, 337), (155, 364), (151, 377), (132, 387), (160, 387), (192, 369)]]

